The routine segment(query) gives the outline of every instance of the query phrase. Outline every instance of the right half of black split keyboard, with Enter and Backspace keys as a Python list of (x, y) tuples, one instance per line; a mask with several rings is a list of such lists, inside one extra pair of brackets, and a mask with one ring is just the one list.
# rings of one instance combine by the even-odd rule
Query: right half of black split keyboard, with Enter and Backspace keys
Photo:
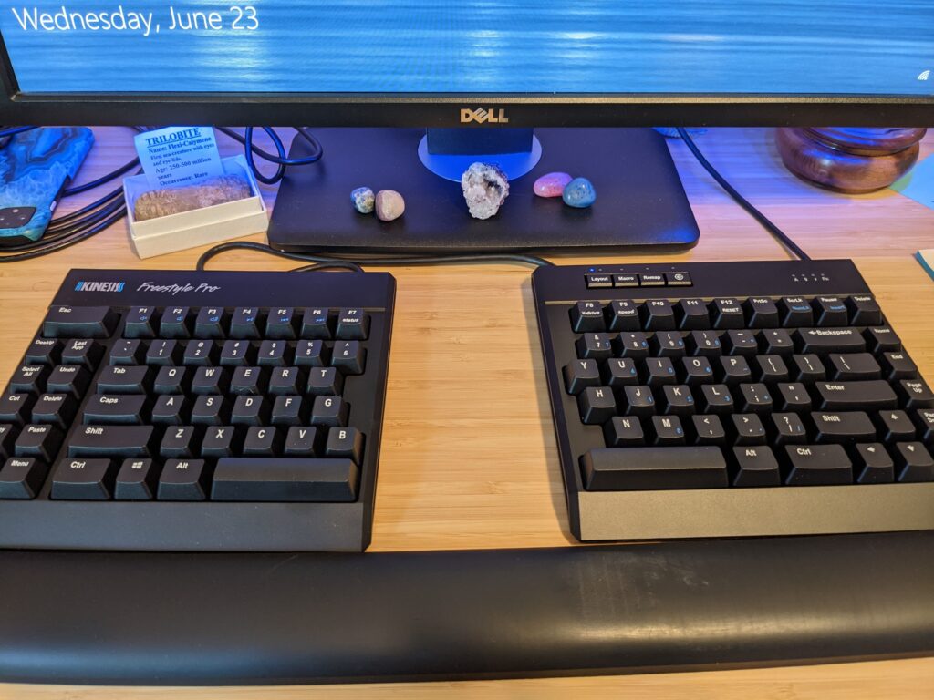
[(532, 288), (578, 539), (934, 529), (934, 393), (851, 261)]

